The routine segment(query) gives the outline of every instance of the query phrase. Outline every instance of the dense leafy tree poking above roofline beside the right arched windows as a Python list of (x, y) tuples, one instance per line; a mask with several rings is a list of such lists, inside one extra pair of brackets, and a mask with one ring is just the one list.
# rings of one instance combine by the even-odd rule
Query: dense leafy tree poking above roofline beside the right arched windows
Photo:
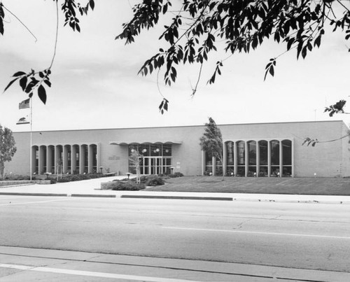
[(205, 126), (204, 134), (200, 138), (200, 146), (202, 150), (207, 151), (209, 157), (216, 157), (223, 165), (223, 136), (221, 130), (212, 118), (209, 118), (209, 123), (206, 123)]

